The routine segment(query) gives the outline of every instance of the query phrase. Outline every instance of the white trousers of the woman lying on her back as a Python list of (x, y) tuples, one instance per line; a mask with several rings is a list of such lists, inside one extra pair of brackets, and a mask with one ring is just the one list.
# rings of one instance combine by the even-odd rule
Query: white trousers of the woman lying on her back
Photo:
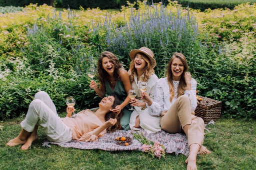
[(35, 125), (39, 125), (51, 142), (64, 143), (72, 140), (69, 127), (58, 117), (55, 105), (49, 95), (43, 91), (35, 94), (20, 125), (27, 132), (32, 132)]

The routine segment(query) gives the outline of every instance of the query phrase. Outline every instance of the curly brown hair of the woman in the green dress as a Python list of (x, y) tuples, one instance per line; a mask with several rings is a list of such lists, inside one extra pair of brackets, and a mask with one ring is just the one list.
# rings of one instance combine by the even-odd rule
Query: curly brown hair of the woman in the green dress
[(118, 58), (113, 53), (111, 53), (109, 51), (101, 52), (100, 56), (98, 57), (98, 64), (97, 64), (97, 71), (98, 71), (97, 77), (101, 84), (104, 84), (106, 77), (109, 77), (109, 75), (103, 69), (103, 66), (102, 66), (102, 59), (104, 57), (107, 57), (110, 60), (110, 62), (112, 62), (114, 64), (113, 77), (115, 80), (117, 80), (119, 78), (119, 68), (121, 68), (121, 63), (119, 62)]

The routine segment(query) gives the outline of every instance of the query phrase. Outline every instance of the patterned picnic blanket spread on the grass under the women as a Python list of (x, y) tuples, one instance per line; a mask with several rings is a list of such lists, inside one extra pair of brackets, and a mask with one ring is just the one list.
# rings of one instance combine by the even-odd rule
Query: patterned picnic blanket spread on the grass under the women
[[(130, 136), (133, 137), (131, 132), (135, 133), (135, 131), (124, 131), (118, 130), (115, 132), (107, 132), (99, 138), (95, 142), (81, 142), (81, 141), (70, 141), (62, 144), (54, 143), (45, 141), (43, 142), (43, 146), (49, 147), (48, 144), (55, 144), (59, 145), (64, 148), (77, 148), (82, 150), (88, 149), (100, 149), (105, 151), (131, 151), (131, 150), (139, 150), (142, 151), (142, 144), (139, 143), (135, 138), (132, 139), (132, 144), (129, 146), (119, 146), (115, 144), (114, 139), (117, 137), (126, 137)], [(158, 141), (165, 147), (166, 153), (175, 153), (175, 155), (183, 154), (188, 156), (188, 144), (187, 144), (187, 137), (184, 134), (169, 134), (164, 132), (163, 130), (157, 133), (147, 134), (146, 131), (140, 130), (138, 132), (142, 132), (144, 136), (149, 139), (150, 141)]]

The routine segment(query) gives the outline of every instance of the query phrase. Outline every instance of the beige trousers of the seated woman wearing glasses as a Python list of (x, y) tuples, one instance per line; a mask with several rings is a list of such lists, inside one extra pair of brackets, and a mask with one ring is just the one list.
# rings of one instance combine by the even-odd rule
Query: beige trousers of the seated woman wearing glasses
[(188, 147), (191, 144), (203, 143), (204, 122), (201, 118), (191, 114), (190, 100), (187, 96), (180, 96), (161, 117), (160, 126), (168, 133), (180, 133), (185, 125), (189, 125), (187, 132)]

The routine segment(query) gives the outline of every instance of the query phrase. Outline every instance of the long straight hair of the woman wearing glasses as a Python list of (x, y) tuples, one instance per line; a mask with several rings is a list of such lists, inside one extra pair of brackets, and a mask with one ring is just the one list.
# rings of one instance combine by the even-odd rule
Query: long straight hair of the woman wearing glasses
[(188, 69), (188, 64), (186, 61), (186, 58), (183, 54), (175, 52), (172, 57), (170, 58), (170, 61), (168, 63), (168, 67), (167, 67), (167, 80), (168, 80), (168, 84), (169, 84), (169, 90), (170, 90), (170, 101), (172, 101), (173, 97), (174, 97), (174, 86), (172, 83), (172, 72), (171, 72), (171, 64), (174, 58), (178, 58), (181, 60), (182, 64), (183, 64), (183, 72), (181, 73), (180, 76), (180, 80), (178, 83), (178, 87), (177, 87), (177, 97), (181, 96), (184, 94), (185, 89), (186, 89), (186, 81), (185, 81), (185, 77), (184, 74)]

